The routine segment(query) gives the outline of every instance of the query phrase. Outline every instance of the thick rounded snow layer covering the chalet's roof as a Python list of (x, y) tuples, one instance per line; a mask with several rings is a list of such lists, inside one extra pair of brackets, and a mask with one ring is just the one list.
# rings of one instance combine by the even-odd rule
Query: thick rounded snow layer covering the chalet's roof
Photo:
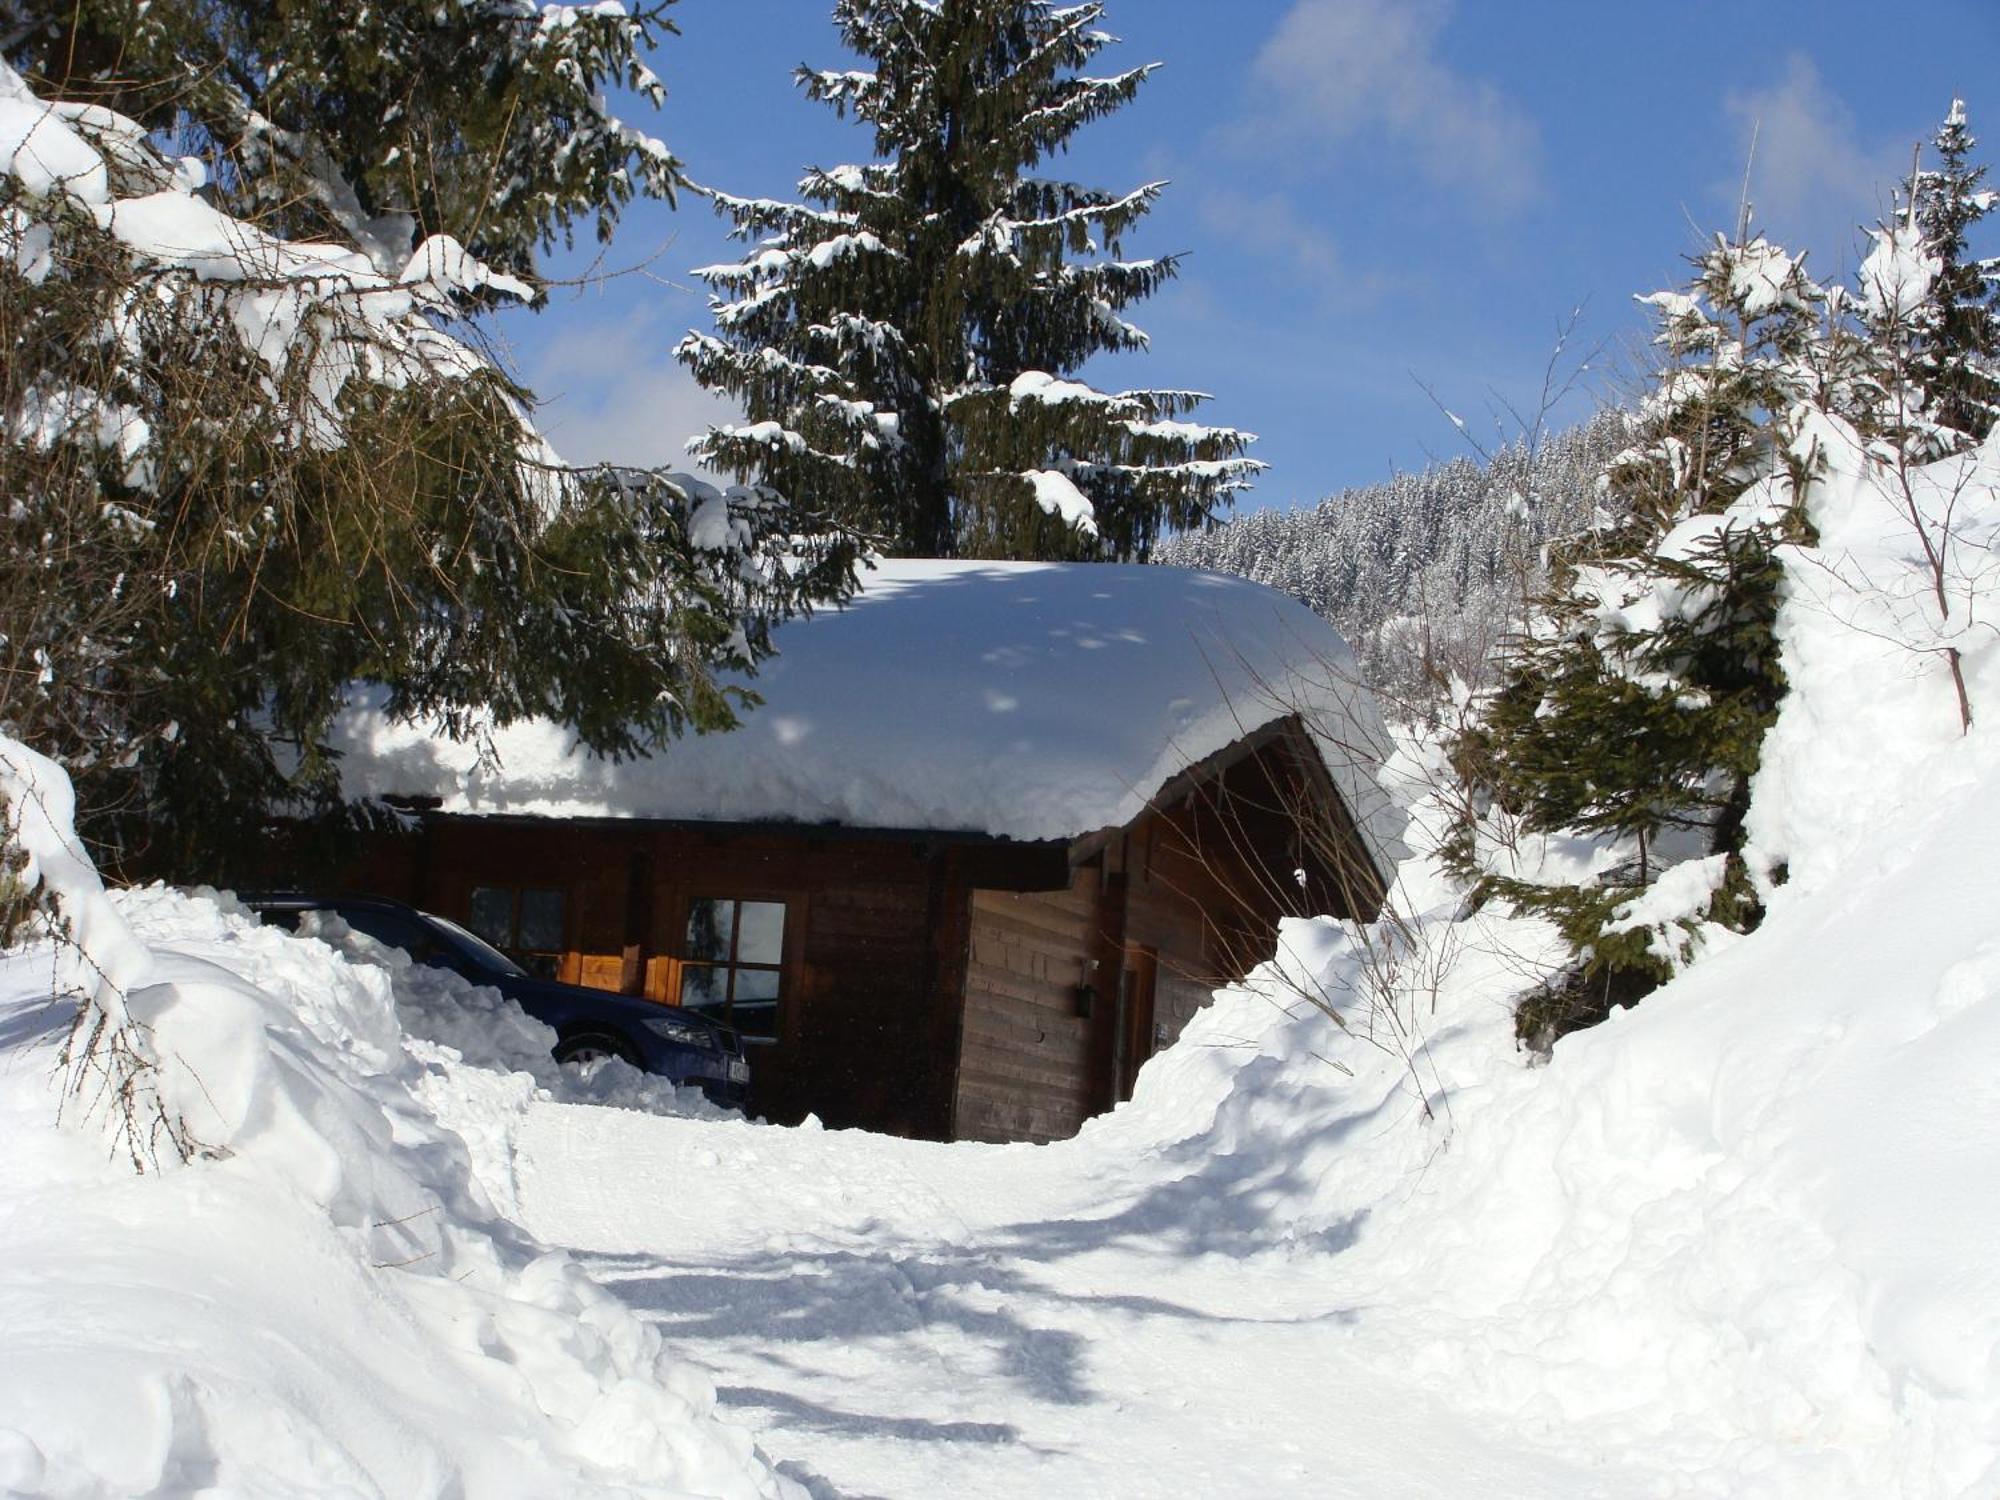
[(1132, 820), (1174, 774), (1300, 714), (1378, 856), (1382, 720), (1346, 642), (1242, 578), (1112, 564), (882, 562), (840, 612), (776, 632), (764, 706), (730, 734), (610, 762), (566, 730), (494, 730), (494, 760), (358, 700), (350, 796), (446, 812), (834, 822), (1072, 838)]

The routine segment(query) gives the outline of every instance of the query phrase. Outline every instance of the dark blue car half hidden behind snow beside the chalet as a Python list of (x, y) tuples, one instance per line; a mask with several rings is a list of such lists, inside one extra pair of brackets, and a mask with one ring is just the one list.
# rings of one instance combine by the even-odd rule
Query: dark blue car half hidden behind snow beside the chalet
[(298, 932), (306, 912), (332, 912), (356, 932), (402, 948), (418, 964), (492, 986), (556, 1032), (556, 1062), (590, 1066), (624, 1058), (642, 1072), (700, 1088), (726, 1108), (742, 1108), (750, 1092), (750, 1064), (728, 1026), (678, 1006), (540, 980), (448, 918), (382, 896), (256, 892), (240, 900), (262, 922), (286, 932)]

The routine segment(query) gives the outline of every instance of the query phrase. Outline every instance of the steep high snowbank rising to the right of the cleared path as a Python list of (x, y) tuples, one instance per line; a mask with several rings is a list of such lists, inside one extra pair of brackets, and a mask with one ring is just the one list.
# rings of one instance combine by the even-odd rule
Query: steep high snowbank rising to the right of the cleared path
[(1960, 736), (1940, 642), (2000, 716), (1968, 628), (2000, 444), (1914, 482), (1962, 548), (1940, 628), (1894, 476), (1818, 440), (1758, 932), (1528, 1068), (1508, 1000), (1558, 958), (1544, 924), (1292, 924), (1078, 1150), (1198, 1162), (1194, 1212), (1340, 1252), (1376, 1360), (1662, 1494), (1972, 1500), (2000, 1492), (2000, 734)]

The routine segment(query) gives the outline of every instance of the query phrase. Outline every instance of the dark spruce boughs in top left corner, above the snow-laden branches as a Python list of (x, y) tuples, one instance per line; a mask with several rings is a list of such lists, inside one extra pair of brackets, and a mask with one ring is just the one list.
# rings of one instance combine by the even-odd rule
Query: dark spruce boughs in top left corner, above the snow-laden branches
[[(208, 194), (290, 240), (396, 274), (432, 234), (512, 274), (680, 162), (620, 120), (658, 104), (644, 54), (674, 0), (0, 0), (8, 60), (44, 98), (102, 104), (212, 168)], [(472, 300), (478, 302), (476, 294)]]

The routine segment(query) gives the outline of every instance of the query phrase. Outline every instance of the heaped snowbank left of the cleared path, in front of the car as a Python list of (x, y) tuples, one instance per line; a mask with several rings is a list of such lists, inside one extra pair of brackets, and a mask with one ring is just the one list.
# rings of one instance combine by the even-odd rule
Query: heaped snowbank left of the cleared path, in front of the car
[[(164, 890), (118, 912), (202, 1158), (134, 1176), (58, 1126), (68, 1010), (46, 950), (0, 960), (0, 1492), (802, 1494), (650, 1326), (496, 1218), (434, 1106), (464, 1096), (458, 1054), (408, 1042), (390, 968)], [(490, 1050), (540, 1042), (524, 1020)]]

